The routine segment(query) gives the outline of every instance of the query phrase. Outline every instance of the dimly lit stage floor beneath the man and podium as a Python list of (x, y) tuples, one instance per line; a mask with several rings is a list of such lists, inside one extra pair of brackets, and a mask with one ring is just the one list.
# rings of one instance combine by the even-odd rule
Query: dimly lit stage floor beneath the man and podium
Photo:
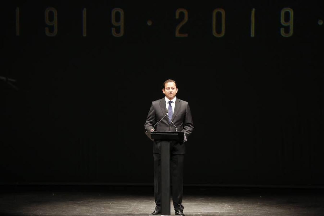
[[(147, 216), (155, 208), (151, 186), (0, 188), (0, 215)], [(324, 189), (184, 187), (182, 204), (186, 216), (321, 216)]]

